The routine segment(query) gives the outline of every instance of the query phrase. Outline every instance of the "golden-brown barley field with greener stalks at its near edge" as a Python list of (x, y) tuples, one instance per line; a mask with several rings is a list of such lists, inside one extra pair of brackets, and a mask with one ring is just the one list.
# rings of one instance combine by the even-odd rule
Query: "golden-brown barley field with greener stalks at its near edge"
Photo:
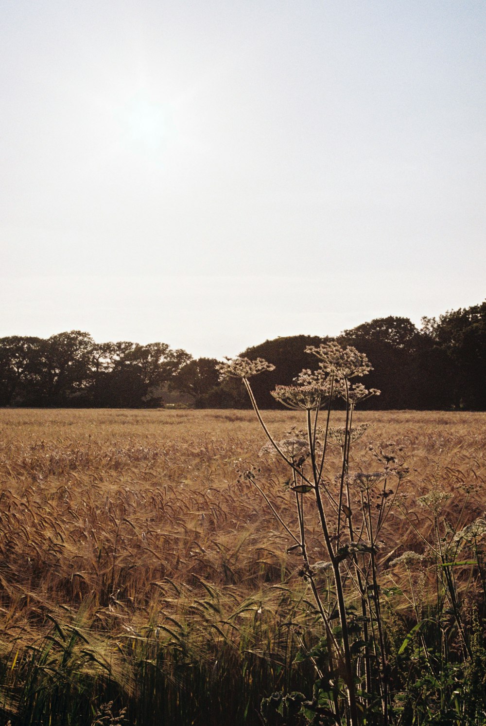
[[(295, 412), (263, 417), (276, 437), (302, 425)], [(390, 446), (408, 469), (379, 550), (387, 637), (405, 652), (416, 593), (394, 562), (423, 552), (439, 521), (419, 497), (440, 492), (445, 531), (485, 515), (486, 415), (356, 419), (370, 427), (351, 472), (373, 471)], [(268, 504), (296, 526), (253, 412), (2, 409), (0, 434), (1, 725), (257, 725), (261, 698), (312, 692), (321, 624)], [(334, 464), (339, 446), (329, 482)], [(313, 517), (308, 550), (321, 562)], [(485, 613), (477, 552), (454, 571), (465, 623)], [(427, 608), (432, 573), (413, 582)]]

